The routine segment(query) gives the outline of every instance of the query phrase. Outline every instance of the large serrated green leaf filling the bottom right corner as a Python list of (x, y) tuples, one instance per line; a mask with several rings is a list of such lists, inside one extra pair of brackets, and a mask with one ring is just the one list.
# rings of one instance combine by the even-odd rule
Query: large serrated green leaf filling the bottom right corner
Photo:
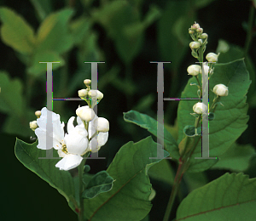
[(225, 173), (192, 191), (177, 208), (176, 220), (254, 220), (256, 178)]

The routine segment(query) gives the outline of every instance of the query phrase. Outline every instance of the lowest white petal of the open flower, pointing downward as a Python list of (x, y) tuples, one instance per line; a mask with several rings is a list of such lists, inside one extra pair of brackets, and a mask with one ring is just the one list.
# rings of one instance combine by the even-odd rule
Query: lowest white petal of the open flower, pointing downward
[(70, 170), (78, 167), (82, 160), (82, 156), (68, 154), (61, 161), (58, 161), (55, 167), (59, 167), (60, 170)]

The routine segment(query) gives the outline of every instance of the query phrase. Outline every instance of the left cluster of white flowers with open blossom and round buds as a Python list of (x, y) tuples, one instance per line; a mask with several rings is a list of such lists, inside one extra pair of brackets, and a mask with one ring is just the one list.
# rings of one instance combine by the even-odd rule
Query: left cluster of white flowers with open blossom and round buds
[[(85, 83), (86, 82), (86, 83)], [(82, 94), (83, 97), (93, 96), (96, 92), (97, 99), (102, 99), (103, 94), (97, 90), (90, 90), (90, 80), (84, 80), (87, 86), (87, 94)], [(81, 90), (79, 90), (79, 95)], [(47, 110), (46, 107), (42, 111), (36, 111), (38, 116), (37, 121), (30, 122), (30, 127), (38, 136), (38, 148), (42, 150), (49, 150), (52, 147), (58, 151), (61, 161), (55, 167), (61, 170), (70, 170), (78, 167), (85, 153), (97, 152), (102, 145), (108, 141), (109, 122), (103, 117), (96, 116), (95, 111), (90, 108), (91, 103), (88, 102), (86, 106), (79, 106), (76, 110), (77, 123), (74, 127), (73, 122), (75, 117), (72, 116), (67, 122), (67, 133), (64, 135), (64, 122), (61, 123), (60, 115)], [(90, 106), (89, 106), (90, 105)], [(53, 133), (46, 129), (47, 116), (52, 116)], [(46, 140), (52, 139), (53, 146), (48, 146)], [(96, 141), (93, 142), (92, 141)], [(94, 145), (96, 144), (96, 145)]]

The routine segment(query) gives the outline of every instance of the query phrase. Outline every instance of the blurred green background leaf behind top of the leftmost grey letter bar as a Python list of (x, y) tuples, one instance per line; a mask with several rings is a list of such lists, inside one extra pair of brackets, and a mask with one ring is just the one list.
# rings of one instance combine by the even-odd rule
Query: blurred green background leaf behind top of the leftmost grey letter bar
[(57, 68), (65, 65), (64, 59), (61, 56), (53, 51), (44, 51), (38, 52), (34, 54), (32, 58), (32, 65), (28, 67), (28, 73), (33, 76), (39, 76), (42, 73), (46, 72), (47, 64), (39, 63), (45, 61), (60, 61), (61, 63), (55, 63), (52, 65), (52, 70), (56, 70)]

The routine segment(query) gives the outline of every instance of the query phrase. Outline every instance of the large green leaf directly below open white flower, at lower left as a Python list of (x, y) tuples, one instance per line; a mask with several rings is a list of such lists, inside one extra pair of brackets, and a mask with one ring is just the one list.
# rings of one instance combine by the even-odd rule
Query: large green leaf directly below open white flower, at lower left
[[(58, 190), (61, 195), (66, 198), (69, 206), (74, 210), (74, 185), (71, 174), (55, 167), (55, 164), (60, 161), (60, 159), (38, 159), (39, 157), (45, 157), (46, 151), (38, 149), (37, 145), (38, 140), (33, 144), (26, 144), (24, 141), (16, 139), (16, 157), (25, 167)], [(56, 156), (55, 152), (54, 156)]]

